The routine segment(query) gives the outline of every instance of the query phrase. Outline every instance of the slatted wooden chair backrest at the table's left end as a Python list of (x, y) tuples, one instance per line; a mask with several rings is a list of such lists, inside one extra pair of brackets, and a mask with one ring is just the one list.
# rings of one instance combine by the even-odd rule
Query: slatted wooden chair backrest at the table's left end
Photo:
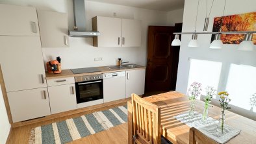
[(136, 143), (161, 143), (160, 108), (132, 94), (133, 134)]

